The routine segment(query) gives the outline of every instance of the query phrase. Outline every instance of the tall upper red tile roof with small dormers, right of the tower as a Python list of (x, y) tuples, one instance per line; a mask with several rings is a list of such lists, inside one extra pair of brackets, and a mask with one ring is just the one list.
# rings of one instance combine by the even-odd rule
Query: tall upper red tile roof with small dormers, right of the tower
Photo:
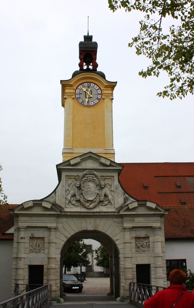
[(182, 202), (194, 205), (194, 163), (121, 164), (124, 167), (119, 180), (135, 199), (149, 200), (163, 207), (182, 205)]

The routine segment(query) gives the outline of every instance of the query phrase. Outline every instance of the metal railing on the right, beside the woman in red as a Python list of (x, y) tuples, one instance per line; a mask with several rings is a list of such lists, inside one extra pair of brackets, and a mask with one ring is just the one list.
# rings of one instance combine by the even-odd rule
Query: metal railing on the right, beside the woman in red
[(129, 300), (131, 304), (143, 308), (143, 303), (155, 293), (165, 290), (165, 287), (143, 285), (140, 283), (129, 283)]

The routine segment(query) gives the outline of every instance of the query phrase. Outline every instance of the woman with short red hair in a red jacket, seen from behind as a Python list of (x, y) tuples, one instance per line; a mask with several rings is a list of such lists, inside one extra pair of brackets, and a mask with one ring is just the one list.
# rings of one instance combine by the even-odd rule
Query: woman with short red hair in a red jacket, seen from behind
[(170, 286), (149, 298), (144, 308), (194, 308), (194, 294), (185, 288), (186, 274), (182, 270), (173, 270), (169, 281)]

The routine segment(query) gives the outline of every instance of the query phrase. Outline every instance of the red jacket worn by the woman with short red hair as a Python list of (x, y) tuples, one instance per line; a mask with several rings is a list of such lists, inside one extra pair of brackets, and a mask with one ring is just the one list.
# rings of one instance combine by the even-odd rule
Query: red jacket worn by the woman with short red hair
[(171, 308), (180, 294), (185, 293), (180, 298), (175, 308), (194, 308), (194, 294), (188, 292), (182, 285), (171, 285), (166, 290), (154, 294), (144, 303), (144, 308)]

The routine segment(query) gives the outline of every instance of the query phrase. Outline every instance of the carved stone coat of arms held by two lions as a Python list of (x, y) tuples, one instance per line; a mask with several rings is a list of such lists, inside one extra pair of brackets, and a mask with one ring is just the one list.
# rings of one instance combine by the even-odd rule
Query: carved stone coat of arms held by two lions
[(114, 190), (112, 183), (105, 181), (105, 176), (99, 176), (93, 170), (86, 170), (81, 176), (75, 176), (68, 181), (65, 190), (65, 207), (80, 206), (92, 209), (97, 204), (114, 208)]

